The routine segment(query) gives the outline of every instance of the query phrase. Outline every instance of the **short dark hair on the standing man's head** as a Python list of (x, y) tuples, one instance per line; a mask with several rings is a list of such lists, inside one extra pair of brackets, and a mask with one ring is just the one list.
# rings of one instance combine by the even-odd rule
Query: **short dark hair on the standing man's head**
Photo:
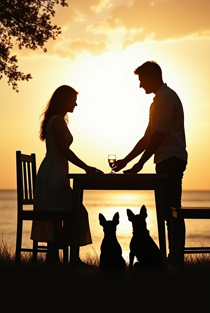
[(140, 74), (144, 77), (147, 77), (148, 75), (153, 75), (157, 79), (162, 79), (162, 70), (158, 63), (153, 60), (143, 63), (141, 66), (135, 69), (134, 74)]

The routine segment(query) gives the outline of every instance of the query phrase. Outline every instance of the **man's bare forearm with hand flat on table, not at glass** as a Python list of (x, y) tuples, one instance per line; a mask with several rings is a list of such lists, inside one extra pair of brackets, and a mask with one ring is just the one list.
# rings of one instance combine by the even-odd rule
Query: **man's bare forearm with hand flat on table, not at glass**
[(148, 142), (148, 145), (141, 156), (140, 160), (138, 163), (134, 164), (134, 166), (126, 171), (123, 171), (123, 173), (128, 174), (128, 173), (138, 173), (141, 171), (141, 169), (144, 166), (144, 163), (146, 163), (151, 156), (155, 153), (155, 151), (158, 150), (159, 146), (162, 144), (166, 134), (154, 131), (152, 136), (150, 137), (150, 140)]

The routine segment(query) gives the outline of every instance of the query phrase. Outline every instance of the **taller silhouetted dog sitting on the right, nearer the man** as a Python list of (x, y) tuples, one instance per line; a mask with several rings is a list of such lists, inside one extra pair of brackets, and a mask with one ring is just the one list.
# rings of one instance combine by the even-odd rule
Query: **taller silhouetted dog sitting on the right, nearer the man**
[[(162, 259), (160, 249), (154, 242), (147, 229), (146, 217), (147, 209), (142, 206), (140, 214), (135, 215), (131, 210), (127, 209), (128, 220), (132, 222), (133, 237), (130, 242), (129, 254), (129, 270), (142, 268), (161, 268)], [(136, 256), (138, 262), (133, 260)]]

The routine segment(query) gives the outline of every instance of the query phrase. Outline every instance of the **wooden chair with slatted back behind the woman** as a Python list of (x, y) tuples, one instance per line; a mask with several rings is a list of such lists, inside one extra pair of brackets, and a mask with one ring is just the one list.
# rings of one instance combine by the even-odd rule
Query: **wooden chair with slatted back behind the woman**
[[(20, 263), (21, 252), (32, 252), (32, 262), (37, 263), (37, 253), (47, 253), (50, 249), (47, 246), (38, 245), (33, 241), (33, 248), (22, 248), (22, 223), (23, 221), (54, 221), (54, 236), (58, 234), (59, 221), (69, 221), (70, 211), (34, 211), (33, 209), (23, 210), (23, 205), (33, 205), (33, 190), (36, 182), (36, 156), (22, 154), (16, 151), (16, 169), (17, 169), (17, 239), (15, 263)], [(68, 246), (59, 247), (63, 249), (63, 264), (68, 264)], [(52, 249), (51, 249), (52, 251)], [(57, 250), (56, 253), (59, 253)]]

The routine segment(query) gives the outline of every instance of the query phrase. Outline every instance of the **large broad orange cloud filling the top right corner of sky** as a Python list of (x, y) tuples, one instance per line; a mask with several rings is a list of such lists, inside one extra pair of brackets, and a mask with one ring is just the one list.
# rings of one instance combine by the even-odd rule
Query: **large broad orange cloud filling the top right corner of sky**
[[(108, 33), (122, 28), (141, 32), (136, 38), (133, 35), (131, 43), (151, 36), (155, 40), (199, 36), (209, 34), (209, 12), (209, 0), (135, 0), (116, 7), (110, 17), (90, 25), (88, 31)], [(127, 40), (124, 45), (128, 44)]]

